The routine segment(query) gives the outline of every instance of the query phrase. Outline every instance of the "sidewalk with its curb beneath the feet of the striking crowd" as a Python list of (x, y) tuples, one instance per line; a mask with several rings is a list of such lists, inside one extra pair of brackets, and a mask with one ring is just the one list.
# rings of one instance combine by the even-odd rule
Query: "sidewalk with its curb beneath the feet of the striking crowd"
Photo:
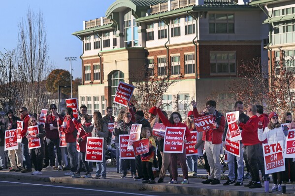
[[(198, 169), (198, 171), (201, 169)], [(174, 194), (188, 194), (188, 195), (203, 195), (203, 196), (281, 196), (280, 192), (274, 193), (264, 193), (264, 184), (262, 183), (262, 188), (260, 189), (249, 189), (244, 186), (223, 186), (222, 183), (226, 180), (221, 180), (220, 185), (210, 185), (202, 184), (201, 181), (204, 179), (201, 178), (189, 178), (189, 184), (182, 185), (168, 185), (169, 177), (164, 179), (164, 183), (156, 184), (142, 184), (141, 181), (135, 181), (131, 178), (131, 175), (128, 174), (127, 178), (121, 179), (121, 174), (116, 173), (114, 168), (107, 168), (106, 179), (84, 179), (84, 178), (71, 178), (69, 176), (64, 176), (64, 173), (67, 171), (42, 171), (43, 175), (33, 176), (31, 173), (21, 173), (21, 172), (9, 172), (0, 171), (0, 178), (14, 178), (14, 179), (25, 179), (25, 180), (34, 180), (34, 181), (46, 181), (46, 182), (61, 182), (61, 183), (70, 183), (70, 184), (80, 184), (80, 185), (93, 185), (99, 187), (117, 187), (117, 188), (126, 188), (126, 189), (136, 189), (140, 190), (142, 188), (150, 191), (159, 191), (159, 192), (169, 192)], [(181, 172), (180, 172), (181, 173)], [(81, 172), (84, 175), (84, 172)], [(92, 176), (95, 175), (95, 171), (92, 172)], [(159, 178), (156, 178), (156, 182)], [(181, 183), (182, 177), (178, 178), (178, 181)], [(244, 181), (244, 184), (247, 184), (248, 181)], [(272, 187), (272, 183), (269, 185), (269, 190)], [(286, 195), (294, 195), (295, 185), (286, 184)]]

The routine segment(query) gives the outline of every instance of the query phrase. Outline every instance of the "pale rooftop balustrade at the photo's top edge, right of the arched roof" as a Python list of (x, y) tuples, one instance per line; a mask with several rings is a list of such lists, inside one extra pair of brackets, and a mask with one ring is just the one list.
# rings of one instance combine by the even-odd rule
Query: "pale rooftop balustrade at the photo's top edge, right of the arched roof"
[(171, 0), (166, 3), (160, 3), (158, 5), (152, 5), (151, 6), (151, 14), (157, 14), (160, 12), (168, 11), (168, 3), (170, 2), (170, 8), (173, 9), (179, 9), (182, 7), (187, 7), (191, 5), (196, 4), (196, 0)]

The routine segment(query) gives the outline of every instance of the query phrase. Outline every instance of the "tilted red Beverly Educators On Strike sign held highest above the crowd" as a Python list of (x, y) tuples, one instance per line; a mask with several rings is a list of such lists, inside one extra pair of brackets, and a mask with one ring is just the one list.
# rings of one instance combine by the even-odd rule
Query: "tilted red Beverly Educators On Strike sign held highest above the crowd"
[(114, 98), (114, 103), (127, 107), (132, 96), (134, 86), (120, 82)]

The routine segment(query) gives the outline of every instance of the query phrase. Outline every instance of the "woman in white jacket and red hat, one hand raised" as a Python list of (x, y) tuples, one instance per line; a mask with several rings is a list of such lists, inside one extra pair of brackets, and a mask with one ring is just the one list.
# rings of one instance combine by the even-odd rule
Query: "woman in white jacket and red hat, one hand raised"
[[(267, 139), (267, 142), (278, 142), (283, 141), (285, 146), (286, 136), (282, 130), (281, 124), (279, 123), (278, 114), (276, 112), (271, 112), (268, 116), (270, 122), (268, 126), (265, 127), (263, 132), (262, 122), (258, 123), (258, 139), (263, 141)], [(285, 147), (284, 147), (285, 148)], [(271, 191), (282, 191), (282, 175), (283, 171), (272, 173), (273, 186)]]

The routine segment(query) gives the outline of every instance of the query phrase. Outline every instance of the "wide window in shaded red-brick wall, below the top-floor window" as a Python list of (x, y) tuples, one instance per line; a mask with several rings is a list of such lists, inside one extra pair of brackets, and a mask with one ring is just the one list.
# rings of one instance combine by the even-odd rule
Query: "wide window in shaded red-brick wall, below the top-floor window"
[(235, 52), (210, 52), (210, 73), (235, 74)]

